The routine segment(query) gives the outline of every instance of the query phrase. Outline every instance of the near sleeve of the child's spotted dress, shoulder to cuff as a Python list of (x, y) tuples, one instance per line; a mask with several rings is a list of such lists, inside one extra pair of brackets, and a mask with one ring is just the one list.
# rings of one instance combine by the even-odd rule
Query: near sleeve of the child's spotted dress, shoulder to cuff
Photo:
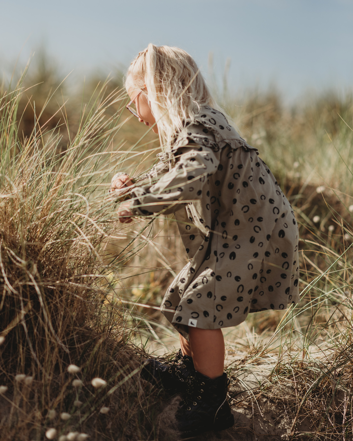
[(177, 148), (174, 155), (175, 167), (154, 185), (133, 189), (130, 208), (134, 215), (175, 213), (185, 204), (200, 199), (207, 176), (216, 172), (219, 164), (215, 153), (209, 147), (188, 145)]

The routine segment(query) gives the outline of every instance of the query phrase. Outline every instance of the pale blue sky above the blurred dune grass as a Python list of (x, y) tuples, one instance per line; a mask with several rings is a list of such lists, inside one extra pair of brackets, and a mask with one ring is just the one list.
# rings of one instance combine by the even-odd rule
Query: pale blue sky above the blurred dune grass
[(44, 45), (63, 76), (128, 65), (148, 43), (187, 50), (241, 90), (287, 98), (353, 86), (353, 0), (0, 0), (0, 69)]

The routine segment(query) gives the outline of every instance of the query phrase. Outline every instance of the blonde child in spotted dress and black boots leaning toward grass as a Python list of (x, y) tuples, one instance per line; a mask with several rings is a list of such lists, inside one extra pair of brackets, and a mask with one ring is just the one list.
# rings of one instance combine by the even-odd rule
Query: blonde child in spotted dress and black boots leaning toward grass
[(130, 197), (118, 218), (174, 213), (190, 259), (161, 306), (179, 332), (182, 357), (174, 367), (150, 360), (144, 375), (183, 392), (176, 421), (184, 436), (227, 429), (234, 418), (222, 328), (298, 302), (298, 226), (273, 174), (228, 123), (189, 54), (150, 44), (131, 63), (125, 87), (126, 107), (159, 134), (163, 152), (148, 185), (113, 177), (110, 194)]

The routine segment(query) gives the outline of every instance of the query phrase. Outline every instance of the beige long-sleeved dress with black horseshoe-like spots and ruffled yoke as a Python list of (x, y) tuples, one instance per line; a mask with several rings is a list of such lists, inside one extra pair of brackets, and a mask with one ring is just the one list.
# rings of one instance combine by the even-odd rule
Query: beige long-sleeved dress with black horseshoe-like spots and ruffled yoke
[(188, 338), (189, 326), (234, 326), (297, 303), (298, 225), (257, 149), (203, 106), (160, 159), (150, 184), (133, 188), (131, 210), (175, 214), (190, 261), (161, 310), (177, 331)]

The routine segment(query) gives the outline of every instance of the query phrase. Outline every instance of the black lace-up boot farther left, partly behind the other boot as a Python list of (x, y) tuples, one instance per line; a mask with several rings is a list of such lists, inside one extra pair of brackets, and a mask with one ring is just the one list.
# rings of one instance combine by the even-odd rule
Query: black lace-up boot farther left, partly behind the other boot
[(194, 372), (193, 359), (188, 355), (182, 355), (179, 350), (170, 364), (163, 364), (153, 359), (146, 360), (141, 369), (141, 377), (174, 395), (185, 392), (186, 380)]

